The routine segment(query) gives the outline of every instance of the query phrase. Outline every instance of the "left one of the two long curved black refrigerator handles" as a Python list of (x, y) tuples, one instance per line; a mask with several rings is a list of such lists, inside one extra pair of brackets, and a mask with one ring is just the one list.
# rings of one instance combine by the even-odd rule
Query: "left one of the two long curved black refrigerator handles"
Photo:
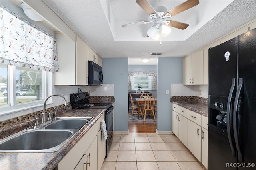
[(235, 151), (235, 145), (236, 144), (232, 140), (233, 139), (232, 136), (234, 136), (234, 135), (231, 135), (231, 129), (233, 129), (233, 126), (232, 126), (233, 113), (232, 113), (231, 101), (232, 101), (232, 96), (233, 96), (235, 87), (236, 87), (236, 79), (233, 78), (232, 79), (232, 85), (231, 85), (231, 88), (230, 88), (230, 92), (229, 92), (229, 95), (228, 95), (227, 131), (228, 131), (228, 141), (229, 141), (229, 144), (230, 144), (230, 147), (231, 147), (231, 154), (234, 157), (236, 157), (236, 151)]

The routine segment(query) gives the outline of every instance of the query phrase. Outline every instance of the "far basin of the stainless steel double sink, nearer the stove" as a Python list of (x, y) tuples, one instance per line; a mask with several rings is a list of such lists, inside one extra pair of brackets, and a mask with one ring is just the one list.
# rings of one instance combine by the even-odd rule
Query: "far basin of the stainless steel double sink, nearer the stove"
[(50, 123), (49, 125), (46, 125), (45, 129), (72, 129), (72, 130), (79, 130), (81, 127), (83, 127), (91, 117), (88, 117), (87, 119), (84, 118), (57, 118), (56, 121)]

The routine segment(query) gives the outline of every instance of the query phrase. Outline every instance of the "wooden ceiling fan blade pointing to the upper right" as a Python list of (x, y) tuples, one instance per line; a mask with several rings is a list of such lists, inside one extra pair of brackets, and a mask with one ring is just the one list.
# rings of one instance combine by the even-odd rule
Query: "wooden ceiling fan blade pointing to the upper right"
[(199, 0), (188, 0), (172, 8), (171, 10), (165, 12), (164, 15), (166, 15), (167, 13), (170, 13), (172, 16), (175, 16), (176, 14), (179, 14), (180, 12), (186, 11), (194, 6), (197, 6), (198, 4), (199, 4)]

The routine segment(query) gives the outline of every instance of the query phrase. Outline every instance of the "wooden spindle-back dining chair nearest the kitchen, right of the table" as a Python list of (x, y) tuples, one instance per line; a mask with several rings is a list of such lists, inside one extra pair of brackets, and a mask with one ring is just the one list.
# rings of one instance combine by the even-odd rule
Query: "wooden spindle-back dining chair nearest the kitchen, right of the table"
[[(142, 116), (144, 116), (144, 121), (146, 120), (146, 115), (154, 116), (154, 120), (156, 120), (154, 109), (155, 109), (156, 99), (153, 96), (147, 96), (143, 100), (143, 109), (142, 109)], [(148, 111), (149, 114), (146, 114)]]

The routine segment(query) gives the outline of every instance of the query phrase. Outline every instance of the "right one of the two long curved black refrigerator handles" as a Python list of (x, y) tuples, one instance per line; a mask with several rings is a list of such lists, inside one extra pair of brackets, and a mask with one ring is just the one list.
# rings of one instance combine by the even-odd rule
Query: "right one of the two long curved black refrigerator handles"
[(238, 152), (238, 160), (240, 160), (241, 162), (243, 161), (243, 155), (242, 155), (242, 150), (240, 147), (241, 145), (238, 137), (238, 102), (242, 92), (242, 88), (243, 88), (243, 78), (239, 78), (238, 88), (236, 91), (236, 97), (234, 102), (233, 128), (234, 128), (234, 138), (236, 143), (236, 149)]

